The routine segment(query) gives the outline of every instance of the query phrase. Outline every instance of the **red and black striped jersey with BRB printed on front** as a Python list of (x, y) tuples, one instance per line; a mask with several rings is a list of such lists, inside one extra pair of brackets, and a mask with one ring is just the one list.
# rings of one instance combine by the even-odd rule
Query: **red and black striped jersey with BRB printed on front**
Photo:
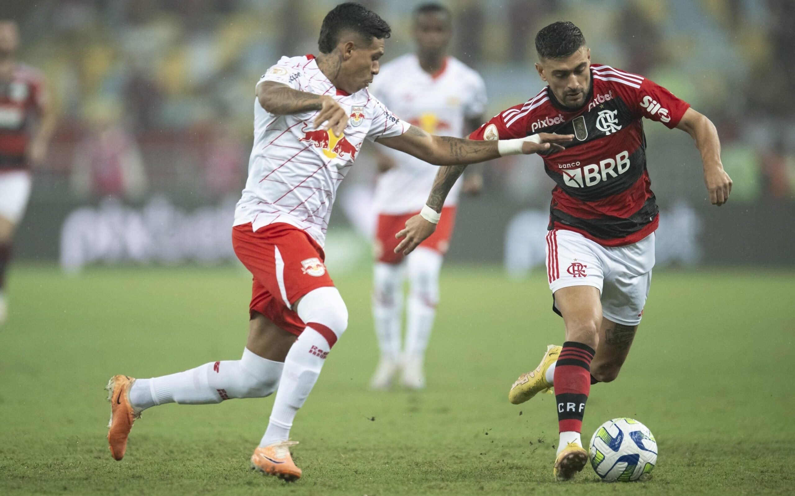
[(576, 231), (603, 246), (636, 243), (659, 221), (641, 117), (673, 129), (689, 105), (649, 79), (606, 65), (591, 65), (585, 102), (579, 110), (568, 110), (545, 87), (495, 115), (470, 138), (573, 134), (575, 140), (563, 152), (543, 157), (556, 183), (549, 229)]

